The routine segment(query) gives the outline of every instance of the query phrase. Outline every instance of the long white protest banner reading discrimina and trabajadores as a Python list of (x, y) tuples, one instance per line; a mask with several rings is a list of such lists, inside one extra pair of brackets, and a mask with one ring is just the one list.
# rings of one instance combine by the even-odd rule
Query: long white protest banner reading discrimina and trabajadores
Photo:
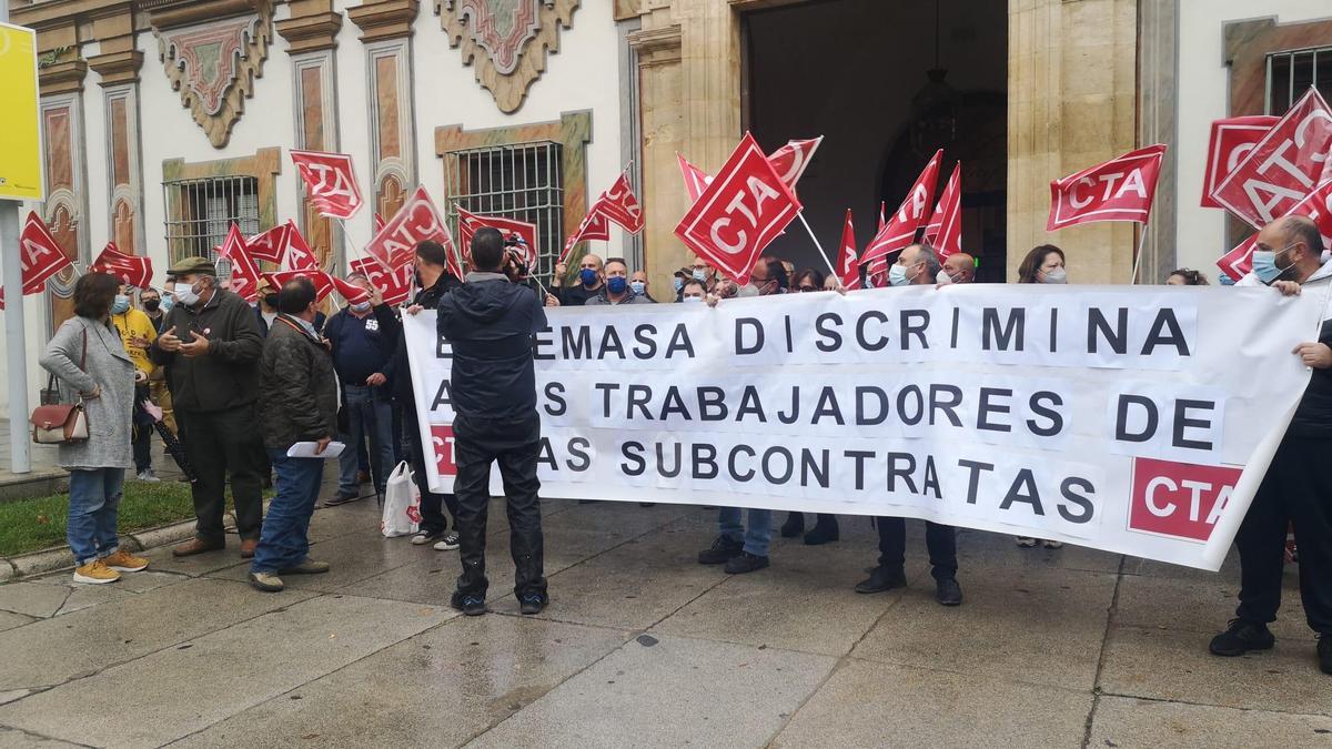
[[(975, 284), (547, 311), (541, 492), (918, 517), (1217, 569), (1324, 296)], [(433, 312), (405, 323), (448, 492), (452, 352)]]

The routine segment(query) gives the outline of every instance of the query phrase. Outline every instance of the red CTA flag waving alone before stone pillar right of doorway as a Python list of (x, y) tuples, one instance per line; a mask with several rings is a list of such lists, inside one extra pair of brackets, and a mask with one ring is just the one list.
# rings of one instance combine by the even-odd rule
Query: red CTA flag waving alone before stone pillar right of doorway
[(1164, 145), (1148, 145), (1050, 183), (1046, 231), (1094, 221), (1146, 224), (1164, 155)]

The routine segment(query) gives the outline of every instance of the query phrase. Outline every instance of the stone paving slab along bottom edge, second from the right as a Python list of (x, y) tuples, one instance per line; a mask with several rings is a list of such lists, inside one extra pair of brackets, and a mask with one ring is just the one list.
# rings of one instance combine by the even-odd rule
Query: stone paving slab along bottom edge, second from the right
[(773, 746), (1082, 746), (1092, 696), (851, 660)]

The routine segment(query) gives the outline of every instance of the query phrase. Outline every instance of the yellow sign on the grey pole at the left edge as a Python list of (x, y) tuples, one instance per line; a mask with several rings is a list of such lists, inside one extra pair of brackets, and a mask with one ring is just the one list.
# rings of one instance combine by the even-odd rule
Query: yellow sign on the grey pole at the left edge
[(0, 24), (0, 200), (41, 200), (37, 32), (31, 28)]

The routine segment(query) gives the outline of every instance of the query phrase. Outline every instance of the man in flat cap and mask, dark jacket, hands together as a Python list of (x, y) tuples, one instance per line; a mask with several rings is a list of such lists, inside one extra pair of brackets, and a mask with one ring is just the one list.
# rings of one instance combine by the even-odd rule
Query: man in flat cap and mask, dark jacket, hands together
[(241, 557), (254, 556), (264, 516), (265, 460), (258, 429), (258, 360), (264, 352), (254, 311), (217, 283), (206, 257), (186, 257), (168, 275), (176, 305), (153, 343), (153, 361), (166, 365), (176, 421), (198, 477), (194, 538), (172, 549), (188, 557), (226, 546), (222, 513), (226, 474), (232, 477)]

